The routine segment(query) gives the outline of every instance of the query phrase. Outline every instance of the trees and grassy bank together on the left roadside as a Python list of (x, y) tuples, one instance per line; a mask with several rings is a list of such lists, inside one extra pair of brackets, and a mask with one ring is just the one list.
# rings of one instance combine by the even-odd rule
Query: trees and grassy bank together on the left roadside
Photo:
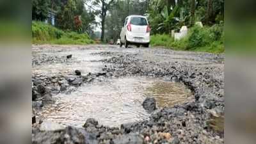
[(32, 20), (33, 44), (93, 44), (95, 15), (86, 10), (84, 0), (33, 0)]

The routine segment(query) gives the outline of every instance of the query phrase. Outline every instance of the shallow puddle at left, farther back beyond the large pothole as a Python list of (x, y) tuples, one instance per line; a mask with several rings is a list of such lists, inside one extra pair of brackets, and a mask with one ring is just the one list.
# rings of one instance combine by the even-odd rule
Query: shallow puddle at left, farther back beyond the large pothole
[[(45, 76), (54, 76), (56, 74), (67, 75), (73, 73), (74, 70), (80, 70), (82, 74), (87, 74), (89, 72), (101, 72), (104, 63), (100, 62), (108, 57), (102, 57), (99, 55), (93, 55), (92, 53), (99, 52), (97, 50), (87, 50), (87, 51), (63, 51), (63, 52), (40, 52), (35, 54), (35, 57), (42, 56), (46, 54), (48, 57), (58, 56), (65, 57), (68, 54), (72, 54), (72, 60), (66, 60), (64, 62), (54, 62), (54, 63), (42, 63), (41, 65), (35, 65), (33, 67), (33, 74), (42, 74)], [(69, 62), (68, 62), (69, 61)], [(70, 62), (72, 61), (72, 62)]]

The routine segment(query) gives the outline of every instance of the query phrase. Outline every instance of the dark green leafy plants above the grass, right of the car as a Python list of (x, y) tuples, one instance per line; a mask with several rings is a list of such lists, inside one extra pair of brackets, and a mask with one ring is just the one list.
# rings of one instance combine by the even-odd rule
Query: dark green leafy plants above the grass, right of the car
[(191, 27), (195, 21), (212, 26), (224, 18), (224, 0), (178, 0), (177, 3), (152, 0), (148, 14), (154, 34), (170, 33), (172, 29), (178, 30), (181, 26)]

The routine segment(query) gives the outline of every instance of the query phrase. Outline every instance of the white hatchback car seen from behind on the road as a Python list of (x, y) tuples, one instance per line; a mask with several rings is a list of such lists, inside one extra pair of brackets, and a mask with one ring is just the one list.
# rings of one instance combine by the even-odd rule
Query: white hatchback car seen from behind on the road
[(149, 46), (150, 42), (150, 27), (148, 25), (148, 20), (146, 17), (141, 15), (129, 15), (125, 18), (124, 27), (120, 33), (120, 47), (125, 45), (125, 48), (129, 44), (136, 45), (140, 47)]

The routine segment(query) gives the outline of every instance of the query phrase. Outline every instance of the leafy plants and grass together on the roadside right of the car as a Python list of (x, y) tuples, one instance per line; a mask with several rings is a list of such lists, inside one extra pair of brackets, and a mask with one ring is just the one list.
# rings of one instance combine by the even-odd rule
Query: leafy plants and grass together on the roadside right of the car
[[(152, 1), (148, 8), (152, 28), (150, 44), (179, 51), (204, 51), (221, 53), (224, 48), (224, 1), (184, 0)], [(195, 24), (202, 22), (202, 28)], [(189, 31), (181, 40), (174, 40), (182, 26)]]

